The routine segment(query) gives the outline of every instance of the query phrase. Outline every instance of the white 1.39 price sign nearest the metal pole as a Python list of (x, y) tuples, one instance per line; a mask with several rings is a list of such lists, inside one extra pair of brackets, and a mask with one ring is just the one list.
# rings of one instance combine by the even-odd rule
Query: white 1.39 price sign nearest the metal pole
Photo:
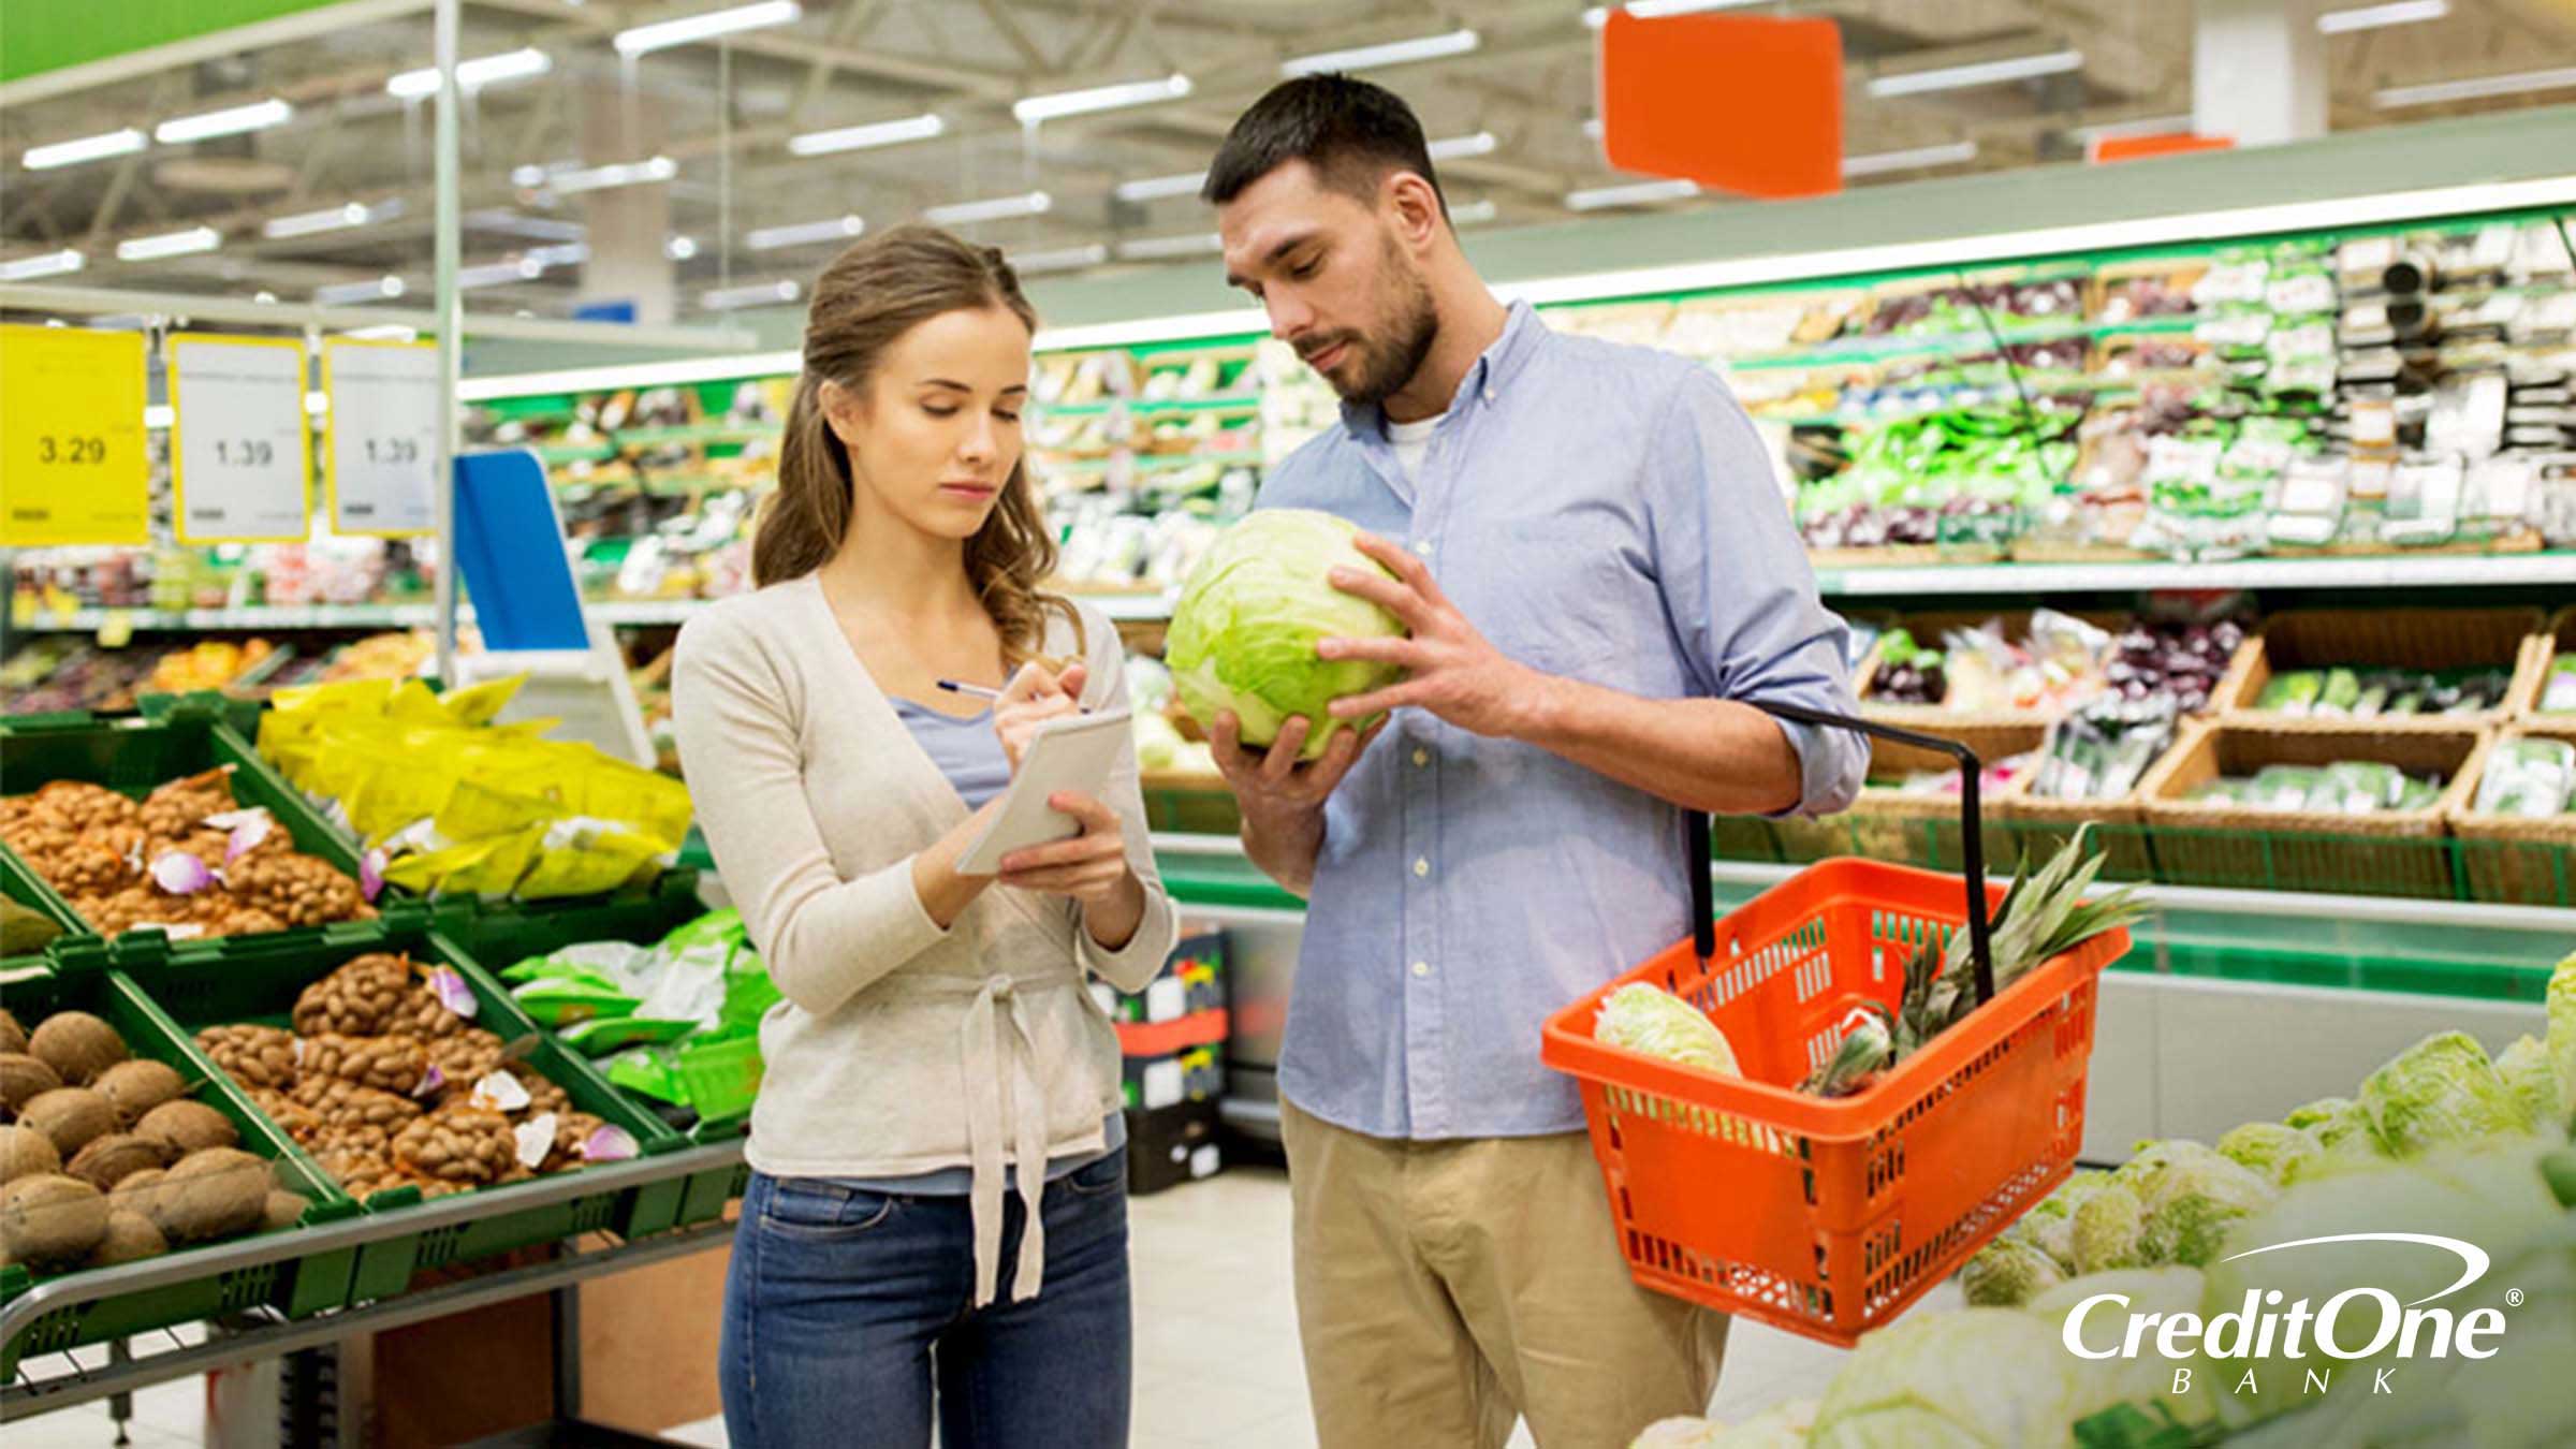
[(330, 338), (325, 469), (335, 534), (415, 539), (438, 526), (438, 345)]

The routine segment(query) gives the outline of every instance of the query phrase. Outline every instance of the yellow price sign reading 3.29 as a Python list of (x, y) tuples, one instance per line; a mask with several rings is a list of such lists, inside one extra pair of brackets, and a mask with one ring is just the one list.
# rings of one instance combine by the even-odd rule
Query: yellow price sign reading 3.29
[(149, 541), (142, 333), (0, 327), (0, 547)]

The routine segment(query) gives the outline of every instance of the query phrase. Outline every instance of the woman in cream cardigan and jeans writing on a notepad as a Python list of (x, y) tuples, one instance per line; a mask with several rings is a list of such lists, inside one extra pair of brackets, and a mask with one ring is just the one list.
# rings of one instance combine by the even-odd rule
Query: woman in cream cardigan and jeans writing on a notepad
[[(899, 227), (814, 284), (757, 590), (680, 634), (680, 763), (786, 1000), (760, 1029), (724, 1294), (737, 1449), (1115, 1446), (1128, 1426), (1118, 1039), (1084, 972), (1172, 949), (1133, 763), (1072, 841), (956, 864), (1038, 724), (1126, 699), (1038, 590), (1036, 315), (994, 248)], [(1007, 683), (989, 712), (938, 681)], [(1043, 1289), (1043, 1292), (1041, 1292)]]

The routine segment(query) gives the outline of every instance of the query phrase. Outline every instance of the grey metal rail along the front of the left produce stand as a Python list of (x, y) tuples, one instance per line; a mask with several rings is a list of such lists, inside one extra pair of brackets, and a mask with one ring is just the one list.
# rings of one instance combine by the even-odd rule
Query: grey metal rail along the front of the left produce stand
[[(152, 1289), (160, 1284), (201, 1279), (209, 1274), (229, 1274), (229, 1271), (255, 1269), (263, 1263), (281, 1263), (289, 1258), (304, 1258), (309, 1253), (322, 1253), (330, 1248), (353, 1248), (361, 1243), (404, 1238), (412, 1232), (471, 1222), (495, 1207), (518, 1212), (523, 1207), (536, 1207), (556, 1199), (574, 1199), (595, 1194), (600, 1189), (641, 1189), (652, 1183), (688, 1178), (693, 1173), (732, 1168), (739, 1163), (742, 1163), (739, 1140), (716, 1142), (703, 1147), (685, 1147), (680, 1152), (665, 1152), (659, 1158), (634, 1158), (626, 1163), (611, 1163), (603, 1168), (582, 1168), (580, 1173), (541, 1178), (536, 1183), (513, 1189), (505, 1204), (492, 1204), (479, 1194), (453, 1194), (420, 1207), (407, 1207), (402, 1212), (353, 1217), (348, 1222), (330, 1222), (322, 1227), (304, 1227), (296, 1232), (268, 1232), (260, 1238), (245, 1238), (240, 1243), (216, 1243), (209, 1248), (191, 1248), (185, 1253), (147, 1258), (142, 1263), (126, 1263), (118, 1269), (93, 1269), (85, 1274), (70, 1274), (62, 1279), (36, 1284), (31, 1292), (10, 1299), (8, 1305), (0, 1305), (0, 1341), (15, 1336), (26, 1325), (44, 1318), (46, 1312), (77, 1302), (95, 1302), (134, 1289)], [(430, 1289), (368, 1305), (343, 1307), (314, 1318), (232, 1320), (216, 1325), (216, 1333), (211, 1333), (204, 1343), (188, 1343), (178, 1333), (162, 1330), (160, 1338), (170, 1343), (167, 1348), (155, 1346), (152, 1351), (137, 1351), (134, 1348), (137, 1343), (142, 1346), (152, 1343), (149, 1336), (124, 1341), (126, 1351), (116, 1351), (113, 1343), (85, 1348), (90, 1354), (106, 1351), (108, 1364), (103, 1366), (82, 1366), (77, 1359), (82, 1348), (59, 1354), (31, 1354), (26, 1361), (18, 1364), (18, 1377), (8, 1385), (0, 1385), (0, 1423), (15, 1423), (39, 1413), (52, 1413), (57, 1408), (126, 1395), (142, 1387), (183, 1379), (191, 1374), (204, 1374), (209, 1369), (222, 1369), (229, 1364), (247, 1364), (258, 1359), (294, 1354), (301, 1348), (317, 1348), (337, 1338), (345, 1338), (350, 1333), (402, 1328), (404, 1323), (425, 1323), (430, 1318), (446, 1318), (451, 1312), (466, 1312), (474, 1307), (507, 1302), (515, 1297), (554, 1292), (580, 1284), (585, 1279), (598, 1279), (605, 1274), (618, 1274), (626, 1269), (639, 1269), (667, 1258), (706, 1253), (711, 1248), (729, 1243), (732, 1235), (734, 1225), (724, 1217), (716, 1217), (711, 1222), (657, 1232), (652, 1238), (611, 1240), (587, 1248), (580, 1245), (580, 1240), (567, 1240), (564, 1256), (554, 1261), (477, 1274), (451, 1284), (438, 1284)]]

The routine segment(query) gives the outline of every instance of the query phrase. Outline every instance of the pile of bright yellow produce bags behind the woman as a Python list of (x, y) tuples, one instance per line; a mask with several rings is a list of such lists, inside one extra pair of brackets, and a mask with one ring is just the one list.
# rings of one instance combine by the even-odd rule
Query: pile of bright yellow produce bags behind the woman
[(492, 724), (518, 686), (283, 691), (260, 717), (260, 753), (368, 843), (386, 882), (425, 895), (592, 895), (667, 869), (688, 835), (688, 786), (546, 740), (544, 719)]

